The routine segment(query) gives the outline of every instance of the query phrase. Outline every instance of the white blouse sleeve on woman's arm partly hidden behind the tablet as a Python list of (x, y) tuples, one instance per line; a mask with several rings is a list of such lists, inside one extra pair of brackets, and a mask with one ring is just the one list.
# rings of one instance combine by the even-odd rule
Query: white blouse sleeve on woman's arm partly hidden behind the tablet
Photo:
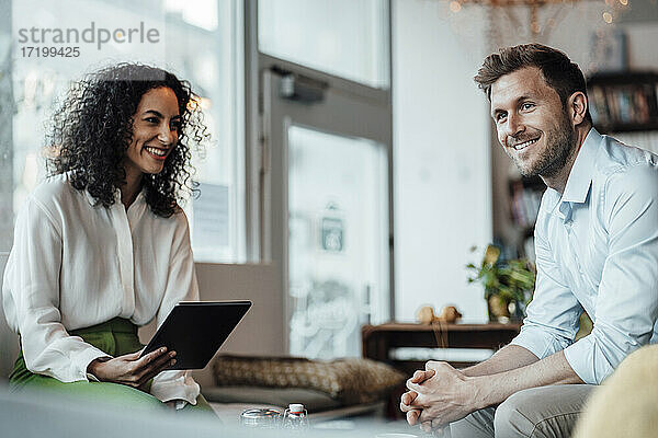
[[(157, 314), (158, 327), (180, 301), (198, 301), (198, 285), (190, 245), (190, 230), (184, 212), (177, 217), (179, 229), (174, 238), (167, 289)], [(162, 402), (184, 400), (195, 405), (201, 388), (190, 371), (162, 371), (154, 378), (150, 392)]]

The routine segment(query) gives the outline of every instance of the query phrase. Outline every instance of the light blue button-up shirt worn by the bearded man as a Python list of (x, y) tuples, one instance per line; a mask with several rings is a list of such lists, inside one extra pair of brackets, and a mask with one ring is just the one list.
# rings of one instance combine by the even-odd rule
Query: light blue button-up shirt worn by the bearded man
[[(540, 359), (564, 349), (599, 384), (658, 343), (658, 155), (591, 129), (564, 194), (544, 193), (535, 251), (534, 298), (512, 344)], [(574, 343), (583, 309), (593, 330)]]

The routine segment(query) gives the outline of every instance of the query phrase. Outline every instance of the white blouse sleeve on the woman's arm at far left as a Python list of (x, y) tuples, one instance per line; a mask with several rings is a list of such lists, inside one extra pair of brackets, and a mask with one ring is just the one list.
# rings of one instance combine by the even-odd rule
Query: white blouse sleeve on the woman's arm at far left
[(37, 199), (29, 198), (16, 218), (13, 260), (3, 280), (4, 309), (21, 335), (30, 371), (63, 382), (87, 381), (89, 364), (107, 355), (70, 336), (61, 323), (61, 245), (57, 222)]

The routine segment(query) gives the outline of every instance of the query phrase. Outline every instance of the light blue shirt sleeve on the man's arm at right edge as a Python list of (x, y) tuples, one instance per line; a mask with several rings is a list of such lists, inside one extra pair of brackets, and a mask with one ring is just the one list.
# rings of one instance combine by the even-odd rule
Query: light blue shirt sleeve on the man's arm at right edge
[(590, 335), (565, 350), (574, 371), (601, 383), (632, 351), (648, 344), (658, 319), (658, 168), (609, 177), (601, 209), (609, 235)]

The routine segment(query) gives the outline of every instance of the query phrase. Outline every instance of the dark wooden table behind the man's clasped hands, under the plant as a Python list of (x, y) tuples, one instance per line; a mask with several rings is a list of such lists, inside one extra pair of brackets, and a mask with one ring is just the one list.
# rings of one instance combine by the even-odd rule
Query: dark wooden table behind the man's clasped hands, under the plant
[[(521, 324), (402, 324), (386, 323), (364, 325), (361, 328), (363, 357), (387, 362), (410, 374), (424, 368), (422, 360), (394, 360), (392, 348), (485, 348), (498, 349), (508, 344)], [(466, 361), (451, 361), (456, 368), (473, 365)]]

